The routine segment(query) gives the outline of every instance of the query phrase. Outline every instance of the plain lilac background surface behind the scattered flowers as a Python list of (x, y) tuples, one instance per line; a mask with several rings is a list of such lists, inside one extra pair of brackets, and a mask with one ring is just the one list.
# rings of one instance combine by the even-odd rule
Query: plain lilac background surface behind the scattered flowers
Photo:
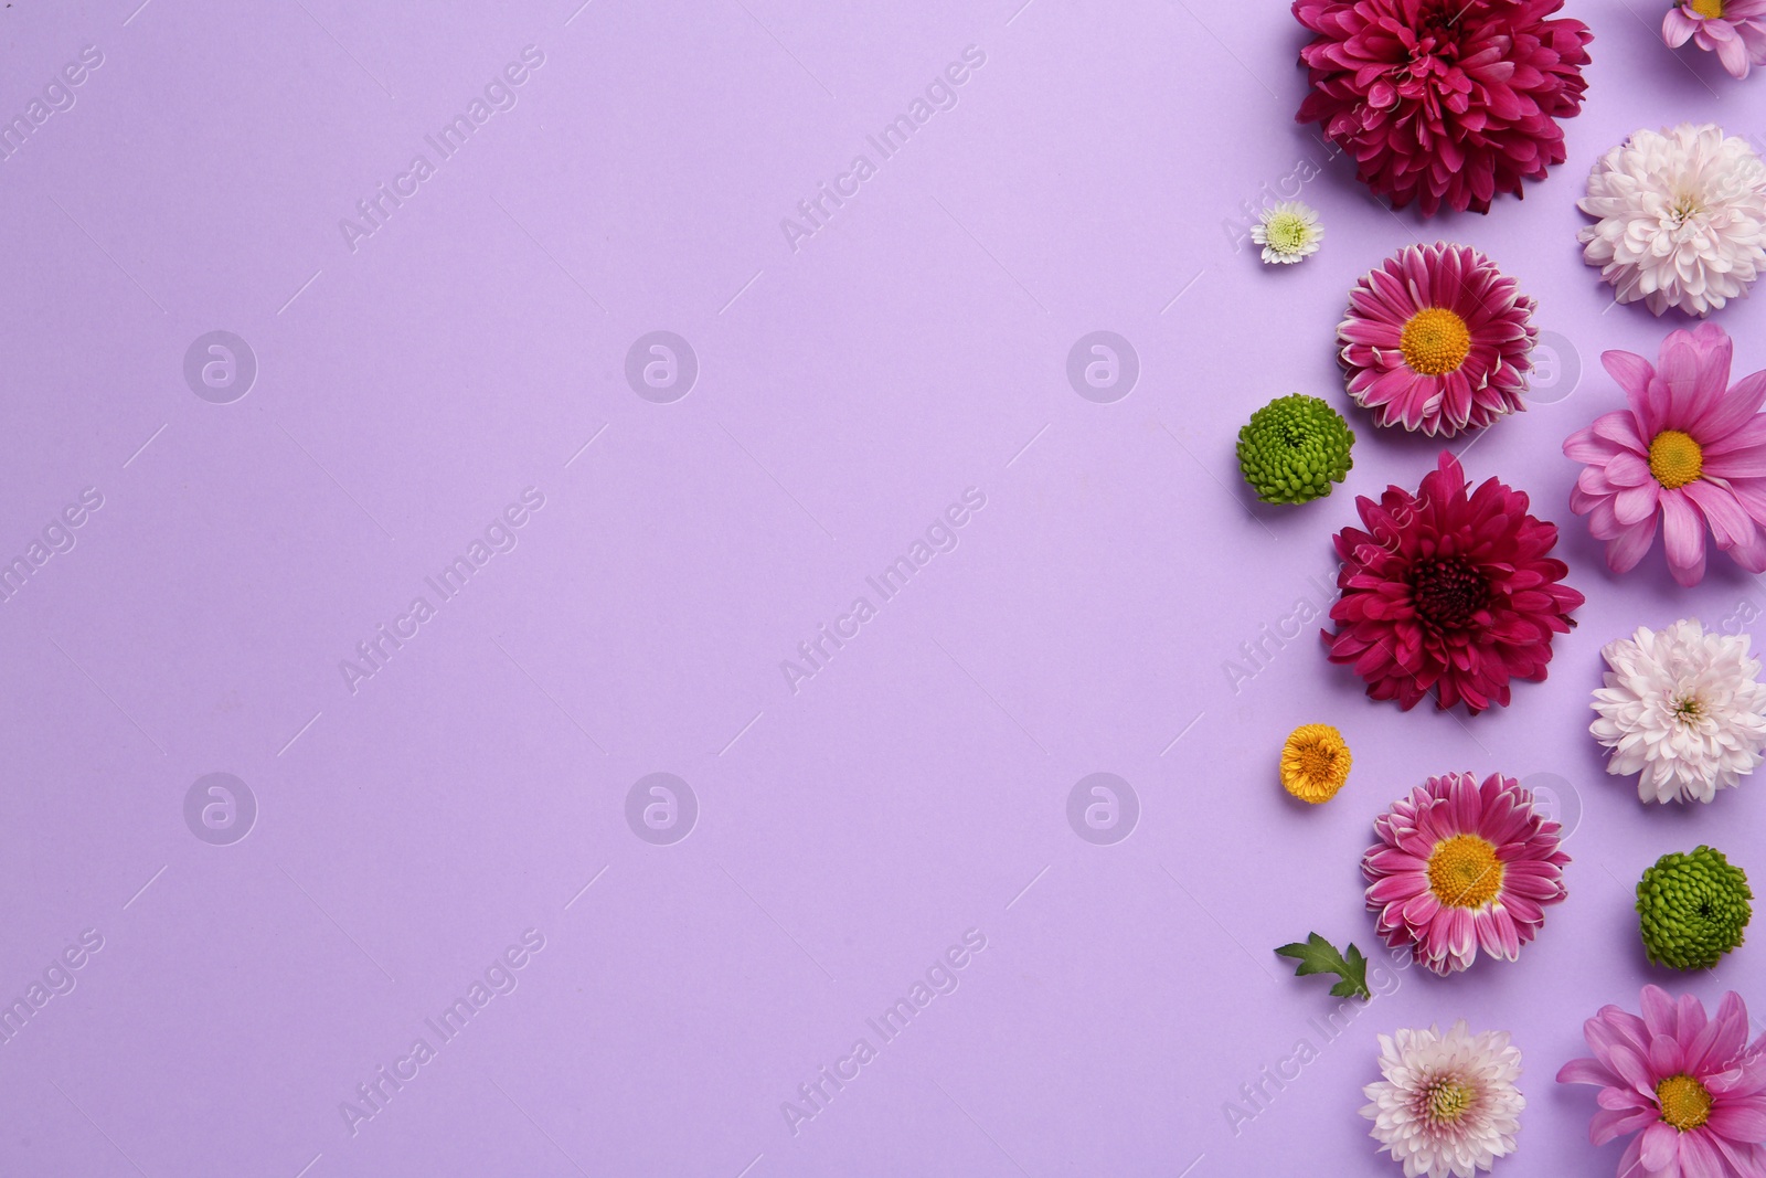
[[(1586, 735), (1604, 641), (1766, 608), (1725, 558), (1690, 592), (1660, 551), (1614, 579), (1565, 507), (1563, 436), (1619, 403), (1598, 353), (1681, 325), (1607, 309), (1588, 166), (1683, 118), (1766, 143), (1766, 79), (1671, 55), (1655, 4), (1572, 4), (1589, 106), (1524, 203), (1422, 223), (1330, 162), (1324, 253), (1284, 272), (1229, 233), (1324, 164), (1275, 0), (136, 4), (0, 14), (7, 117), (104, 55), (0, 164), (0, 553), (104, 496), (0, 606), (0, 996), (104, 938), (0, 1044), (0, 1171), (1393, 1174), (1356, 1114), (1374, 1033), (1468, 1017), (1526, 1054), (1499, 1173), (1607, 1174), (1593, 1091), (1551, 1083), (1581, 1021), (1648, 980), (1766, 1014), (1757, 947), (1667, 975), (1630, 911), (1699, 841), (1766, 878), (1759, 786), (1644, 811)], [(339, 217), (528, 44), (519, 104), (346, 249)], [(971, 44), (955, 109), (793, 253), (781, 217)], [(1233, 436), (1296, 389), (1342, 404), (1344, 291), (1438, 235), (1559, 337), (1542, 403), (1457, 447), (1565, 525), (1581, 629), (1475, 721), (1365, 701), (1312, 627), (1234, 692), (1353, 495), (1438, 447), (1358, 415), (1347, 486), (1273, 510)], [(1718, 321), (1766, 367), (1766, 306)], [(260, 362), (235, 404), (182, 380), (212, 328)], [(655, 328), (701, 364), (673, 404), (623, 380)], [(1143, 366), (1114, 404), (1063, 371), (1098, 328)], [(339, 661), (530, 486), (519, 546), (351, 694)], [(793, 694), (781, 661), (964, 487), (959, 547)], [(1356, 758), (1319, 809), (1273, 782), (1310, 721)], [(1519, 964), (1388, 975), (1234, 1134), (1335, 1007), (1270, 947), (1370, 947), (1372, 816), (1460, 768), (1563, 779), (1570, 901)], [(182, 818), (215, 770), (261, 811), (224, 848)], [(623, 818), (657, 770), (701, 807), (673, 846)], [(1065, 819), (1098, 770), (1143, 807), (1114, 846)], [(339, 1102), (530, 927), (519, 989), (351, 1136)], [(961, 987), (883, 1046), (865, 1019), (966, 929)], [(878, 1058), (793, 1136), (781, 1104), (858, 1037)]]

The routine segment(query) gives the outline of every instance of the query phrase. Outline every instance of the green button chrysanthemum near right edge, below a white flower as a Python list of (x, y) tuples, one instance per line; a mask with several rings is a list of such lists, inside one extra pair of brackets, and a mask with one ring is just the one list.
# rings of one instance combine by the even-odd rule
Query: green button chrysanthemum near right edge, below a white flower
[(1722, 851), (1664, 855), (1637, 883), (1649, 961), (1676, 970), (1709, 970), (1741, 943), (1754, 908), (1748, 878)]

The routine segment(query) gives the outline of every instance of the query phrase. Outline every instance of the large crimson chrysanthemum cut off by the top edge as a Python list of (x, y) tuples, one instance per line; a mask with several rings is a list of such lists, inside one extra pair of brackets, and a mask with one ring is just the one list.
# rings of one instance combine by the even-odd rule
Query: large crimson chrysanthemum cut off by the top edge
[(1563, 0), (1294, 0), (1316, 122), (1399, 208), (1491, 210), (1565, 159), (1593, 34)]

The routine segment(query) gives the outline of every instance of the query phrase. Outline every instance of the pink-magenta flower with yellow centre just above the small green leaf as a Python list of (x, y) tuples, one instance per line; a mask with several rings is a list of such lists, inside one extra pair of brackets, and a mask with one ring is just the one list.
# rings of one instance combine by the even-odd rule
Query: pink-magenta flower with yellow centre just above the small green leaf
[(1376, 818), (1374, 834), (1362, 874), (1379, 936), (1443, 977), (1480, 948), (1515, 961), (1545, 924), (1545, 904), (1566, 895), (1559, 827), (1513, 777), (1430, 777)]

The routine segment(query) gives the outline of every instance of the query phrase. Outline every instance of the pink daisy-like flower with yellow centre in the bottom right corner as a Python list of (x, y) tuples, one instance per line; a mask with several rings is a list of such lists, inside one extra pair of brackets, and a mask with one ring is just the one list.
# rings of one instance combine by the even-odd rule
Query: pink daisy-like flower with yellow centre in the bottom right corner
[(1766, 1174), (1766, 1035), (1748, 1046), (1748, 1010), (1734, 991), (1717, 1017), (1692, 994), (1657, 985), (1644, 1017), (1602, 1007), (1582, 1024), (1593, 1060), (1570, 1060), (1559, 1084), (1596, 1084), (1588, 1139), (1637, 1134), (1619, 1178), (1759, 1178)]

